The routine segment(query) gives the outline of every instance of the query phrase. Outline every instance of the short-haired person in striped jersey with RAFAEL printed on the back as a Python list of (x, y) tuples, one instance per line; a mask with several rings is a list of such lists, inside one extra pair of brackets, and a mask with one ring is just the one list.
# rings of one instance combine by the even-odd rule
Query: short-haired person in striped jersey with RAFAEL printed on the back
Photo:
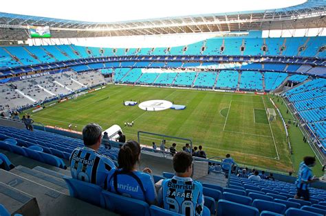
[[(193, 157), (188, 152), (173, 156), (175, 176), (165, 179), (159, 191), (159, 204), (166, 210), (187, 215), (202, 215), (204, 211), (203, 187), (191, 178)], [(186, 209), (184, 208), (186, 204)], [(205, 214), (206, 215), (206, 214)], [(209, 215), (209, 214), (207, 214)]]

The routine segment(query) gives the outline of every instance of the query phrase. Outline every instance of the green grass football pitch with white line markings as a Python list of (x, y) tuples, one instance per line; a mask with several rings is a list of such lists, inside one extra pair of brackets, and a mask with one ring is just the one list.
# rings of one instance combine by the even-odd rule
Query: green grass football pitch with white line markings
[[(138, 106), (123, 106), (124, 100), (165, 99), (186, 105), (185, 110), (144, 111)], [(89, 122), (104, 130), (118, 124), (127, 139), (137, 139), (138, 131), (192, 139), (203, 145), (209, 157), (229, 153), (238, 163), (264, 169), (292, 171), (297, 163), (290, 155), (285, 131), (279, 117), (269, 122), (266, 108), (274, 108), (266, 95), (217, 93), (174, 88), (107, 86), (107, 88), (50, 106), (33, 113), (34, 121), (44, 125), (77, 130)], [(133, 127), (124, 122), (134, 121)], [(141, 143), (160, 140), (142, 136)], [(168, 140), (167, 146), (173, 140)], [(184, 143), (177, 143), (181, 149)]]

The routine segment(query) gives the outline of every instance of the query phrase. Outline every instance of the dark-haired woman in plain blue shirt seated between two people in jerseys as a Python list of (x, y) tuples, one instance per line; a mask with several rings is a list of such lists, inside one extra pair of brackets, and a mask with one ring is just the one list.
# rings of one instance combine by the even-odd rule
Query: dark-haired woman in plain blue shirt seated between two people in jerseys
[[(148, 204), (157, 202), (151, 169), (138, 171), (140, 145), (136, 141), (127, 141), (118, 154), (118, 169), (111, 169), (107, 176), (107, 189), (113, 193), (142, 200)], [(128, 208), (128, 206), (126, 206)]]

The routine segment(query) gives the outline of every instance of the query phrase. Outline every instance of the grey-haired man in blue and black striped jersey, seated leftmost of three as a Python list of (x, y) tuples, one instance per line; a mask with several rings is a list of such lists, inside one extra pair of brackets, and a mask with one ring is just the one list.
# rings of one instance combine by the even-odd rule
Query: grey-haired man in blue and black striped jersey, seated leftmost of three
[(85, 147), (74, 149), (70, 156), (72, 178), (105, 187), (107, 173), (116, 166), (110, 158), (98, 153), (102, 143), (102, 128), (89, 123), (83, 128)]

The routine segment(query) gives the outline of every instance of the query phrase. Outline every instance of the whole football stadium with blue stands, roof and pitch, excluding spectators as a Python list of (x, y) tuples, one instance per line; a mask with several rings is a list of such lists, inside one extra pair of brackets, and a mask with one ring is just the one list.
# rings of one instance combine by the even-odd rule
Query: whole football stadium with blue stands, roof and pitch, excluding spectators
[[(104, 22), (0, 9), (1, 216), (194, 215), (100, 187), (97, 168), (89, 180), (96, 159), (75, 154), (89, 123), (116, 167), (137, 141), (137, 169), (151, 168), (155, 187), (177, 176), (175, 152), (192, 154), (196, 215), (326, 215), (326, 1), (186, 14)], [(294, 199), (305, 156), (319, 178), (309, 201)]]

